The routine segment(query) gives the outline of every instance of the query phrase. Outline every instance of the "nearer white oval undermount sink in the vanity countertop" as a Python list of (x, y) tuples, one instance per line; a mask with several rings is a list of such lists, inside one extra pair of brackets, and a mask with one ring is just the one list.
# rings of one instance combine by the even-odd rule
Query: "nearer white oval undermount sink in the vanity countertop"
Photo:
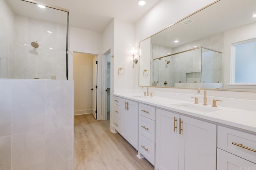
[(200, 112), (205, 112), (205, 113), (220, 110), (216, 107), (200, 106), (200, 105), (196, 105), (196, 104), (186, 104), (186, 103), (172, 104), (172, 106), (182, 107), (184, 109), (190, 109), (190, 110), (200, 111)]

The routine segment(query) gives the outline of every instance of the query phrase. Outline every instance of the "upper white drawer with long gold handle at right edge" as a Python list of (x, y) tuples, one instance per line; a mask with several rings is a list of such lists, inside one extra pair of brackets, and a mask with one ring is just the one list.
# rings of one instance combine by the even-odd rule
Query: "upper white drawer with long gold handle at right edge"
[(218, 126), (217, 147), (256, 163), (256, 135)]

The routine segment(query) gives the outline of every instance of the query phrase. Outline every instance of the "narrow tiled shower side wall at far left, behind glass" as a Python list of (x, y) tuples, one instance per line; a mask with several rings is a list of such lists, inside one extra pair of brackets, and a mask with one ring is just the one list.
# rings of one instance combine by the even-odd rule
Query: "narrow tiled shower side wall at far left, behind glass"
[(0, 78), (14, 78), (15, 15), (5, 0), (0, 0)]

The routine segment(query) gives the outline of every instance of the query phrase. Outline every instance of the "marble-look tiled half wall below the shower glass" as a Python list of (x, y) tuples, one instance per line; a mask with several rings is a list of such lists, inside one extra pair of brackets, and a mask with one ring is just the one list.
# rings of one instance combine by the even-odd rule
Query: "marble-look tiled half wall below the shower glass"
[(72, 170), (74, 83), (0, 80), (0, 169)]

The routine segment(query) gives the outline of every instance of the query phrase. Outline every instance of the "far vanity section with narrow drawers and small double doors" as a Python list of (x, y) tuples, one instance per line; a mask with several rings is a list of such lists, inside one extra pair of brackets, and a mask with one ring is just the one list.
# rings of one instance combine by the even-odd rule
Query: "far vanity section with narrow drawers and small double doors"
[(115, 129), (138, 150), (138, 102), (119, 97), (114, 102)]

